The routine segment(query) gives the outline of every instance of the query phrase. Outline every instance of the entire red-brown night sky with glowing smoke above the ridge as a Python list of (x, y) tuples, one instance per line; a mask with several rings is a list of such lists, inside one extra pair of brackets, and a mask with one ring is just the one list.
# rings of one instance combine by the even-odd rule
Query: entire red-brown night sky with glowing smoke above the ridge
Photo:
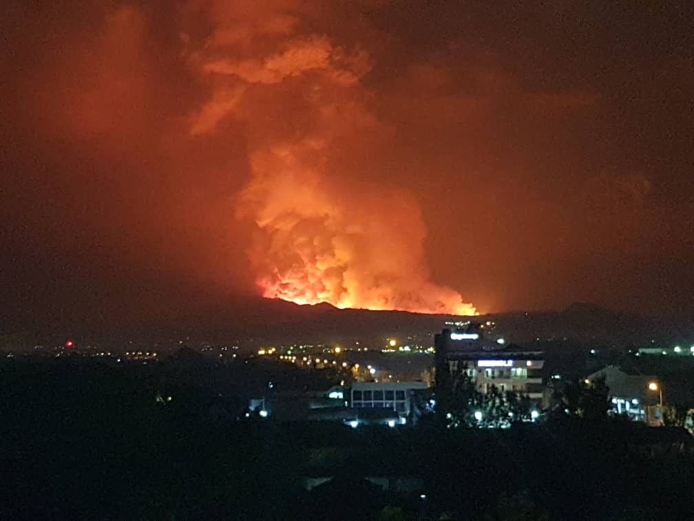
[(6, 328), (692, 313), (692, 3), (489, 4), (10, 0)]

